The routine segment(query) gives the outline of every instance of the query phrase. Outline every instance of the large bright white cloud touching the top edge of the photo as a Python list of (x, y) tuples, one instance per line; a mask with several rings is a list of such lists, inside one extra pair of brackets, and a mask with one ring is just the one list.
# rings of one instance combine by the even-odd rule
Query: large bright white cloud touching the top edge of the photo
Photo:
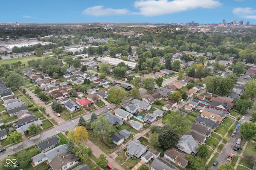
[(174, 14), (196, 8), (217, 8), (221, 5), (218, 0), (140, 0), (134, 3), (135, 8), (144, 16)]

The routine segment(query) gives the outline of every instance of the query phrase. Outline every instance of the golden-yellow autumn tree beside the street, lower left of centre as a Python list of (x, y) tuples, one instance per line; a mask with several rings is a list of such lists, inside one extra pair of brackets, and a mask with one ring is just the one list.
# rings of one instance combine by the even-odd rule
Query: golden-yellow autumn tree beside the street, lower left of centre
[(76, 130), (68, 132), (68, 138), (72, 139), (76, 144), (80, 144), (87, 141), (88, 132), (83, 126), (77, 126)]

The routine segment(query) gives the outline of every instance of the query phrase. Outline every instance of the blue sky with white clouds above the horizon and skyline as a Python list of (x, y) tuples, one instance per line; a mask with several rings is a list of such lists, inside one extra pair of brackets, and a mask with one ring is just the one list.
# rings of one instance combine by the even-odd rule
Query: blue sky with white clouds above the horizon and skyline
[(256, 23), (256, 0), (12, 0), (0, 22)]

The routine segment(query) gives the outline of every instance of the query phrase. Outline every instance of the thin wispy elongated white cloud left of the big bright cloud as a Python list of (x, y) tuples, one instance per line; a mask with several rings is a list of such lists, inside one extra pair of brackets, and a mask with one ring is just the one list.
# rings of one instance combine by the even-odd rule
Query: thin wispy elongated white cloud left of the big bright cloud
[(92, 16), (116, 16), (116, 15), (125, 15), (128, 13), (129, 13), (129, 10), (127, 9), (104, 8), (104, 6), (90, 7), (82, 12), (82, 14), (92, 15)]

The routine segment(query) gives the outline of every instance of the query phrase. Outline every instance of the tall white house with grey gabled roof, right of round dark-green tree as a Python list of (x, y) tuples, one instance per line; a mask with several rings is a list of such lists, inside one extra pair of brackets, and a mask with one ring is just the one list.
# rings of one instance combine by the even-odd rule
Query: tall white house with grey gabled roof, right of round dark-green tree
[(193, 155), (196, 154), (196, 150), (198, 149), (198, 145), (192, 135), (183, 135), (180, 137), (177, 147), (179, 150)]

